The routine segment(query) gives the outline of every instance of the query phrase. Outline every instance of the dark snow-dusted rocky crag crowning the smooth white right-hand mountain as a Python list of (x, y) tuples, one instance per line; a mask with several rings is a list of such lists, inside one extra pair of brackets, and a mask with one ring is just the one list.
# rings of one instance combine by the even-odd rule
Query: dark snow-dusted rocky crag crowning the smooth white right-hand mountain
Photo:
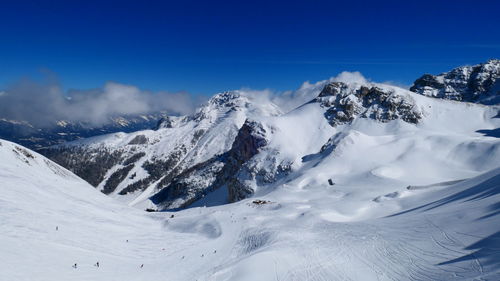
[(356, 117), (381, 122), (401, 119), (416, 124), (423, 115), (411, 96), (370, 84), (332, 82), (315, 101), (327, 108), (325, 117), (332, 126), (349, 123)]

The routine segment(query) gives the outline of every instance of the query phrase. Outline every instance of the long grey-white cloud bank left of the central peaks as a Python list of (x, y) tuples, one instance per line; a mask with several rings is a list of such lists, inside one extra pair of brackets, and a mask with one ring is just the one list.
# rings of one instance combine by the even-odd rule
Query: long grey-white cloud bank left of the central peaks
[(108, 82), (102, 88), (64, 92), (54, 79), (23, 79), (0, 91), (0, 118), (52, 126), (58, 120), (103, 125), (111, 117), (166, 112), (189, 114), (202, 98), (188, 93), (143, 91)]

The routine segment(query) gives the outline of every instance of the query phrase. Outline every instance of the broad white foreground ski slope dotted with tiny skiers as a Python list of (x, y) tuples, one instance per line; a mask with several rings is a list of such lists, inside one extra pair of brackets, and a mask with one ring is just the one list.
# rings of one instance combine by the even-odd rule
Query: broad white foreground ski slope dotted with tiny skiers
[(500, 278), (498, 168), (410, 187), (308, 173), (262, 201), (146, 213), (0, 143), (0, 280)]

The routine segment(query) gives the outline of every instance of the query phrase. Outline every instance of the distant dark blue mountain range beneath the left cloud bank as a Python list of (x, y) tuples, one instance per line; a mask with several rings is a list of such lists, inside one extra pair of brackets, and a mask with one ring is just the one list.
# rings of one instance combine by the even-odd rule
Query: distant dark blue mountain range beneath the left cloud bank
[(31, 149), (40, 149), (67, 141), (115, 132), (134, 132), (154, 128), (167, 114), (164, 112), (115, 116), (103, 125), (59, 120), (51, 126), (35, 126), (27, 121), (0, 118), (0, 138)]

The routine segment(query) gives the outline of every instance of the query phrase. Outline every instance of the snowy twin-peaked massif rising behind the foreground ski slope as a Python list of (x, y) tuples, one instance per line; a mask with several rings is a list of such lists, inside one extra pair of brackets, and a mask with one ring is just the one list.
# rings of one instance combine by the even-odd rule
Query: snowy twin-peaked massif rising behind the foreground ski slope
[(311, 184), (396, 187), (458, 180), (498, 166), (498, 106), (362, 79), (304, 87), (309, 101), (291, 111), (272, 99), (227, 92), (192, 116), (165, 118), (157, 130), (43, 153), (104, 193), (151, 210), (235, 202), (302, 175)]

